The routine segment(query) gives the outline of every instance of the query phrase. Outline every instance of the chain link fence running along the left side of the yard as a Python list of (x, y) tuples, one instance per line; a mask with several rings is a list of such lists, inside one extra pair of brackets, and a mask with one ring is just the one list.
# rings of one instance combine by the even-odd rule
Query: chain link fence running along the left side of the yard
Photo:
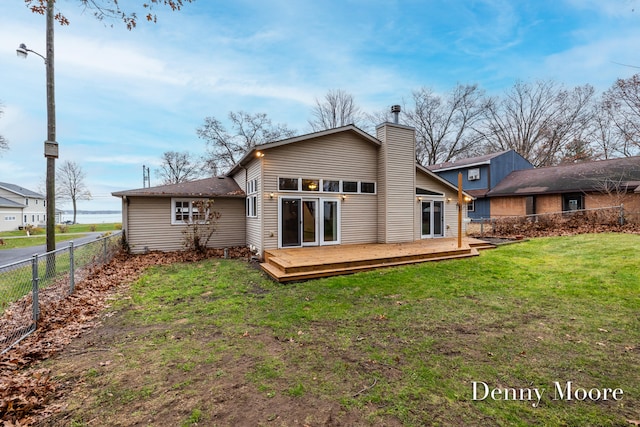
[(122, 232), (0, 266), (0, 354), (36, 330), (40, 305), (72, 294), (93, 267), (120, 250)]

